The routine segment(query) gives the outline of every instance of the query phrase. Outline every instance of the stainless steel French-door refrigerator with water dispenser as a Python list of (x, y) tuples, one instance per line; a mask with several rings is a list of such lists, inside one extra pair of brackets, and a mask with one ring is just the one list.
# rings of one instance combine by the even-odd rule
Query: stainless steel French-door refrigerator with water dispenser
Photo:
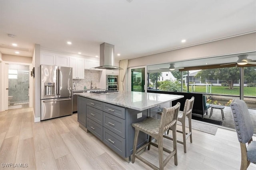
[(72, 68), (41, 65), (41, 120), (72, 114)]

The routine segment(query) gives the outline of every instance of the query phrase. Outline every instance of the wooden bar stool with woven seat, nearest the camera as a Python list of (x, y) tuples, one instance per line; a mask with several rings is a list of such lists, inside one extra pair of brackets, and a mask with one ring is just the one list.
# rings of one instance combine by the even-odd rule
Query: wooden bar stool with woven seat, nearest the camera
[[(132, 152), (132, 163), (134, 163), (135, 157), (150, 166), (153, 169), (163, 170), (164, 166), (168, 163), (168, 161), (174, 156), (174, 164), (178, 165), (178, 156), (177, 156), (177, 141), (176, 141), (176, 124), (178, 119), (178, 112), (180, 109), (180, 103), (178, 102), (175, 106), (163, 109), (161, 119), (156, 119), (153, 117), (147, 117), (141, 122), (132, 123), (132, 127), (135, 128), (135, 136), (134, 136), (134, 144), (133, 144), (133, 152)], [(168, 129), (172, 129), (173, 135), (173, 150), (169, 150), (163, 147), (163, 135)], [(148, 143), (140, 147), (138, 150), (136, 149), (138, 142), (139, 132), (142, 131), (150, 135)], [(158, 141), (158, 145), (153, 143), (152, 137)], [(167, 137), (168, 138), (168, 137)], [(138, 153), (148, 147), (150, 150), (150, 145), (154, 147), (158, 147), (158, 156), (159, 156), (159, 168), (149, 162), (148, 160), (142, 158)], [(168, 152), (169, 155), (165, 160), (163, 160), (163, 151)]]

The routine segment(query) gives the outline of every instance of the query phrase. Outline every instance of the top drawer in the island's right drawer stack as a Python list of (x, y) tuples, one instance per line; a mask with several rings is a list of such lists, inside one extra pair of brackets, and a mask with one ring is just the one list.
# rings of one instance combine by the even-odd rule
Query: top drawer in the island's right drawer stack
[(115, 115), (117, 117), (120, 117), (122, 119), (125, 119), (125, 108), (124, 107), (119, 107), (119, 106), (114, 106), (112, 104), (103, 104), (103, 111), (110, 113), (112, 115)]

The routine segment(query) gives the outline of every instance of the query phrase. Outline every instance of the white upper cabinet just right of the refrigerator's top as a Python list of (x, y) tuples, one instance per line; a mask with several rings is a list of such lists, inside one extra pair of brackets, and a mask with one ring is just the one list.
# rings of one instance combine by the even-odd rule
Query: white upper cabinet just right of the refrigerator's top
[(70, 57), (69, 66), (73, 68), (73, 79), (84, 79), (84, 59)]

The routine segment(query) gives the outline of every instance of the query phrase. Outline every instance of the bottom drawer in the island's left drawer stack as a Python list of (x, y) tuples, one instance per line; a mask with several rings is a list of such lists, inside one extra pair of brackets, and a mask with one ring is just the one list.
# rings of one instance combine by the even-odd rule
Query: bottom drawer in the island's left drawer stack
[(103, 140), (103, 126), (99, 125), (92, 119), (87, 119), (86, 128), (96, 137), (98, 137), (101, 141)]

